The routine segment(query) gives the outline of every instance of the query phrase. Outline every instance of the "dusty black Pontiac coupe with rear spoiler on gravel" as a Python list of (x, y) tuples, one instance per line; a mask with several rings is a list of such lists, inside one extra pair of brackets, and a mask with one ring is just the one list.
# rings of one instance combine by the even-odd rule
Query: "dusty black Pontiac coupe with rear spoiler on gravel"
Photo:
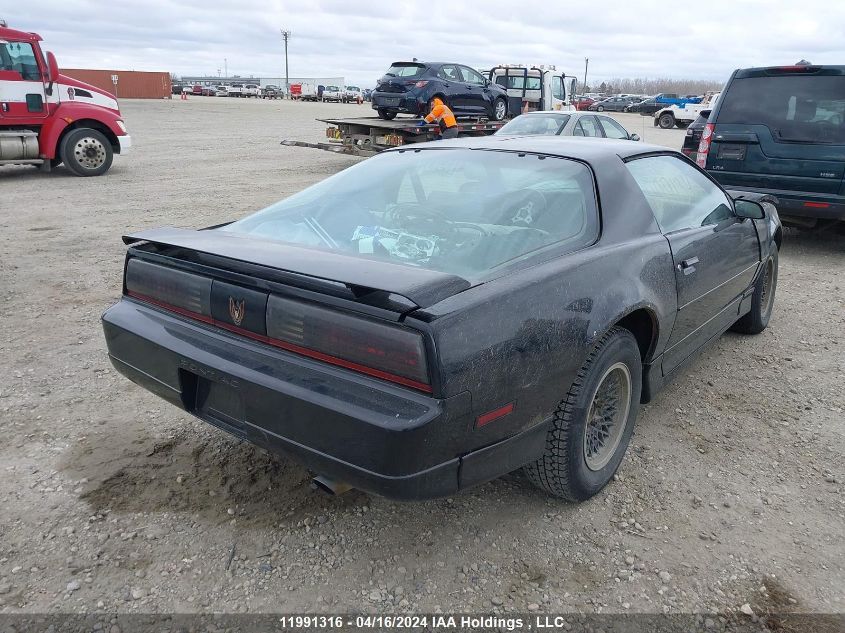
[(324, 481), (421, 499), (524, 467), (583, 500), (640, 403), (766, 327), (781, 228), (752, 196), (641, 143), (396, 149), (231, 224), (125, 236), (109, 355)]

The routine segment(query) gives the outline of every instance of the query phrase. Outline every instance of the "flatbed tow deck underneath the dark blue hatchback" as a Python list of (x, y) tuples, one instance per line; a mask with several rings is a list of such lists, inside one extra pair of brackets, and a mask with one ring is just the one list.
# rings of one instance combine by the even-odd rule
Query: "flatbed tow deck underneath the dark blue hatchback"
[[(352, 119), (317, 119), (327, 124), (324, 143), (309, 143), (286, 139), (282, 145), (290, 147), (311, 147), (338, 154), (352, 156), (373, 156), (383, 150), (401, 145), (434, 141), (439, 138), (436, 123), (420, 125), (422, 119), (396, 118), (385, 121), (378, 117), (357, 117)], [(458, 119), (458, 136), (488, 136), (500, 129), (506, 121), (487, 119)]]

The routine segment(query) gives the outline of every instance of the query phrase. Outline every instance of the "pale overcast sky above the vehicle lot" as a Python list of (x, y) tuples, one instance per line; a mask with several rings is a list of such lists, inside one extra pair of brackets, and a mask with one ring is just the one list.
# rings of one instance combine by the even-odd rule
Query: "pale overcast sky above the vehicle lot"
[[(845, 64), (843, 0), (18, 0), (66, 68), (343, 76), (372, 87), (390, 62), (555, 64), (588, 83), (616, 77), (727, 79), (743, 66)], [(686, 8), (688, 7), (688, 8)]]

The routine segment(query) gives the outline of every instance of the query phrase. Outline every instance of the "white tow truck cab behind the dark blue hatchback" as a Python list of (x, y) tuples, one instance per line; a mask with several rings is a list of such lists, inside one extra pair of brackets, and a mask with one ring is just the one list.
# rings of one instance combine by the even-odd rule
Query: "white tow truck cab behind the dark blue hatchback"
[(511, 114), (537, 110), (574, 111), (575, 77), (552, 65), (504, 64), (482, 73), (508, 93)]

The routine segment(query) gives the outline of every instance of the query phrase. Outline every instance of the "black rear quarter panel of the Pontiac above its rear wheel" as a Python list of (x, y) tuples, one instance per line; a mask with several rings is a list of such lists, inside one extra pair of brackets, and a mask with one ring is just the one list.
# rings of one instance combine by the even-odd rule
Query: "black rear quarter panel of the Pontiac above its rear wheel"
[(642, 308), (654, 319), (646, 361), (666, 345), (677, 312), (669, 243), (622, 161), (593, 167), (603, 225), (595, 246), (413, 313), (430, 321), (444, 397), (470, 392), (474, 417), (516, 403), (475, 431), (480, 445), (548, 419), (596, 341), (626, 314)]

